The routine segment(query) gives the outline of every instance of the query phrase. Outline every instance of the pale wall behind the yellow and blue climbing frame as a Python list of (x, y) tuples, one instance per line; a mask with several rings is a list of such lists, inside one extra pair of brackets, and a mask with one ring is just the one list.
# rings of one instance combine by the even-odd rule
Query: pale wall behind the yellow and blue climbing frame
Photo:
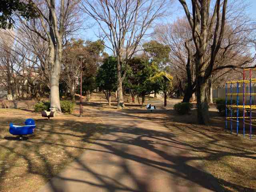
[[(256, 86), (253, 86), (252, 88), (252, 93), (255, 93), (256, 94)], [(244, 88), (244, 92), (249, 94), (250, 93), (250, 87), (245, 87)], [(231, 93), (230, 92), (230, 84), (228, 84), (228, 92), (227, 93)], [(236, 93), (236, 86), (235, 87), (232, 87), (232, 93)], [(239, 92), (240, 94), (243, 93), (243, 87), (239, 87)], [(213, 98), (225, 98), (225, 88), (221, 88), (221, 89), (215, 89), (215, 90), (212, 90), (212, 97)], [(230, 99), (231, 96), (228, 95), (228, 99)], [(232, 99), (233, 100), (236, 100), (236, 95), (232, 95)], [(245, 101), (246, 101), (246, 104), (249, 104), (250, 103), (250, 96), (245, 96)], [(243, 103), (243, 95), (239, 95), (239, 104), (242, 104)], [(252, 96), (252, 104), (256, 104), (256, 96), (253, 95)]]

